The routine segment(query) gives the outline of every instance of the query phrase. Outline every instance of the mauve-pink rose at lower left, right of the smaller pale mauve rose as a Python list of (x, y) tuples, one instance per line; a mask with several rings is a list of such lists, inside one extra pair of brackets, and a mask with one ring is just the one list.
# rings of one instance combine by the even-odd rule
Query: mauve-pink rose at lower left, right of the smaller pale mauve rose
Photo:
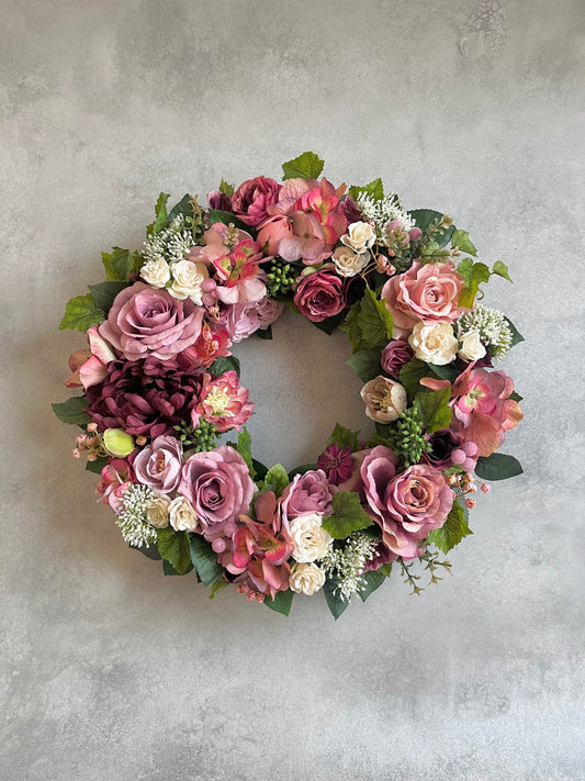
[(187, 459), (178, 490), (193, 505), (205, 539), (213, 542), (235, 533), (237, 516), (248, 512), (256, 486), (239, 453), (220, 445)]

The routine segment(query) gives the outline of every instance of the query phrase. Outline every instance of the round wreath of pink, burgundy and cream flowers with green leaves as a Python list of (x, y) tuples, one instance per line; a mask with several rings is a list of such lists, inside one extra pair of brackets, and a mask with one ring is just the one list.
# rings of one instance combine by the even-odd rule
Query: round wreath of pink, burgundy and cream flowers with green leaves
[[(83, 394), (53, 409), (82, 428), (74, 456), (100, 475), (124, 540), (166, 574), (193, 571), (211, 596), (233, 583), (286, 615), (295, 593), (323, 589), (337, 618), (393, 569), (416, 594), (416, 562), (440, 580), (477, 487), (522, 471), (496, 453), (522, 412), (493, 367), (522, 337), (480, 303), (508, 269), (476, 261), (466, 231), (406, 211), (381, 179), (336, 188), (323, 165), (307, 152), (282, 185), (222, 180), (207, 208), (187, 194), (168, 210), (161, 193), (143, 249), (103, 253), (106, 281), (67, 303), (59, 327), (89, 347), (65, 384)], [(375, 425), (363, 442), (337, 424), (291, 472), (252, 458), (230, 353), (272, 338), (283, 306), (348, 335)]]

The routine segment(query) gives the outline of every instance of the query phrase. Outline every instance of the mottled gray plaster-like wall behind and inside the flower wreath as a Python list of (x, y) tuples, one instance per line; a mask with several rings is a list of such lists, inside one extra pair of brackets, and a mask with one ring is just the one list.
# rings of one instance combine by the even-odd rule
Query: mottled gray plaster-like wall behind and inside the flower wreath
[[(1, 3), (2, 781), (582, 781), (583, 43), (580, 0)], [(397, 576), (336, 624), (209, 601), (126, 548), (74, 429), (57, 332), (139, 246), (160, 190), (278, 176), (305, 148), (447, 211), (529, 341), (526, 397), (452, 578)], [(581, 170), (580, 170), (581, 166)], [(345, 337), (283, 319), (238, 348), (256, 455), (363, 424)]]

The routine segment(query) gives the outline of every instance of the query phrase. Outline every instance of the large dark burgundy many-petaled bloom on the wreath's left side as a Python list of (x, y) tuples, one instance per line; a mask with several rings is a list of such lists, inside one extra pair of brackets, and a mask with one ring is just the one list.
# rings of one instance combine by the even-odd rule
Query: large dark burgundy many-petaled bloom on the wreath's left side
[(112, 360), (108, 377), (87, 390), (88, 412), (99, 431), (123, 428), (127, 434), (157, 437), (190, 423), (200, 400), (202, 372), (185, 372), (178, 360)]

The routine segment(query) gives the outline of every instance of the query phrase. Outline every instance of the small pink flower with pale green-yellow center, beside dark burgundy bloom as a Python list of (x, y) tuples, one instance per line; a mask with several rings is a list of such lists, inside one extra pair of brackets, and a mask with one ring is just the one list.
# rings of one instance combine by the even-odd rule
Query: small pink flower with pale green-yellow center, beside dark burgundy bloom
[(193, 427), (196, 428), (199, 419), (203, 417), (222, 434), (230, 428), (239, 431), (254, 411), (248, 393), (246, 388), (239, 386), (236, 371), (225, 371), (215, 380), (205, 375), (200, 402), (191, 413)]

